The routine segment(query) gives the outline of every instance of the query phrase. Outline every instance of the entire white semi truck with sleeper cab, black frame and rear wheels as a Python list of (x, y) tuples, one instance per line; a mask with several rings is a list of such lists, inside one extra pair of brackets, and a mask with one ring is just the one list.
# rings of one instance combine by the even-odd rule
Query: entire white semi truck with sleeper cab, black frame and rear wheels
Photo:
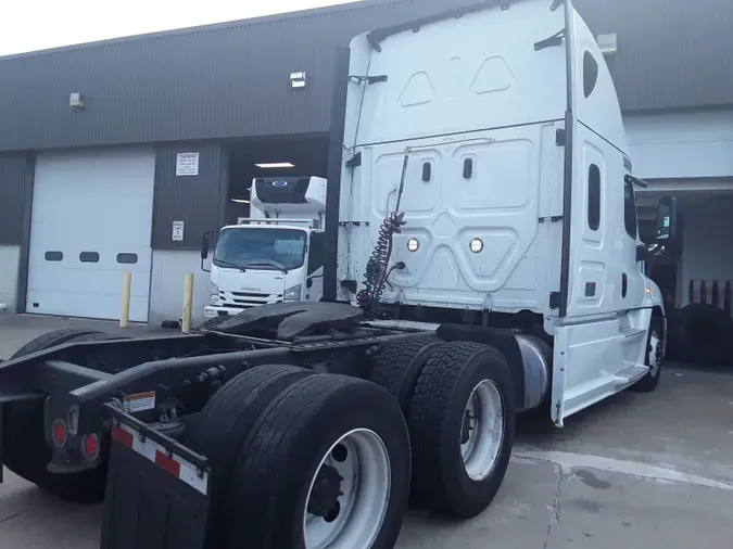
[[(102, 549), (389, 549), (409, 500), (486, 509), (517, 413), (563, 426), (659, 382), (643, 182), (571, 0), (374, 30), (338, 62), (321, 302), (174, 337), (62, 330), (0, 363), (0, 457), (105, 497)], [(657, 250), (679, 239), (662, 199)], [(215, 254), (218, 282), (266, 265), (285, 301), (293, 269), (251, 250)]]

